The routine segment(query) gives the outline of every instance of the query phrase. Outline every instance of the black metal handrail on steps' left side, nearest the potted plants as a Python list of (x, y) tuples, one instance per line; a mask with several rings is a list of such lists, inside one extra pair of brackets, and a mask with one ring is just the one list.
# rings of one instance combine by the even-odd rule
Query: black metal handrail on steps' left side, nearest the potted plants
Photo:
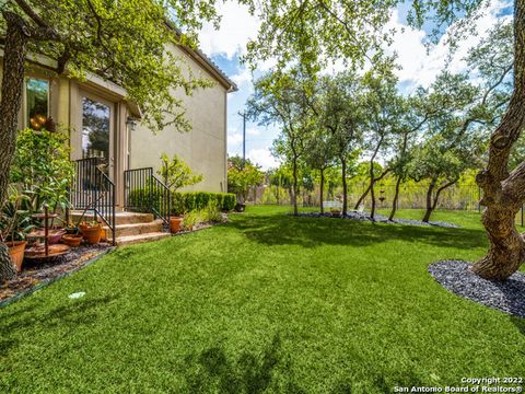
[(75, 171), (70, 190), (73, 209), (93, 212), (93, 219), (101, 218), (112, 231), (115, 245), (116, 199), (115, 184), (103, 171), (103, 158), (88, 158), (74, 162)]

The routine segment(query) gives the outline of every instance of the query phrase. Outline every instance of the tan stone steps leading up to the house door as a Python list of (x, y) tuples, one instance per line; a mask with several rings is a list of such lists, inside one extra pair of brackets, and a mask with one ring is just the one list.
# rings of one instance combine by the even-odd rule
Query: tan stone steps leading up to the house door
[[(71, 218), (77, 223), (82, 216), (82, 211), (72, 211)], [(83, 221), (93, 220), (93, 212), (86, 212)], [(137, 213), (117, 211), (115, 212), (115, 243), (117, 245), (130, 245), (136, 243), (162, 240), (170, 236), (170, 233), (163, 232), (162, 220), (155, 220), (151, 213)], [(113, 239), (112, 230), (104, 227), (108, 241)]]

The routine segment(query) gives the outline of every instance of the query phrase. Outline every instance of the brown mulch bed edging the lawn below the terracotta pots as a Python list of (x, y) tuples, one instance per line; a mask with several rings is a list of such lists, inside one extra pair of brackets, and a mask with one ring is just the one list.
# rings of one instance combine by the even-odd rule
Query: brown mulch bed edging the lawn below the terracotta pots
[(71, 247), (62, 256), (47, 260), (25, 259), (22, 273), (15, 279), (0, 286), (0, 306), (9, 303), (13, 298), (30, 293), (46, 283), (81, 269), (112, 248), (109, 243), (81, 245)]

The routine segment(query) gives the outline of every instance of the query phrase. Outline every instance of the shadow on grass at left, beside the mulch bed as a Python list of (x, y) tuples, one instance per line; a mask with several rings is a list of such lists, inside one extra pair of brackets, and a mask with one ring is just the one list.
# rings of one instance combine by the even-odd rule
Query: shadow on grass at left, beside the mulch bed
[(85, 300), (67, 300), (66, 305), (55, 308), (44, 314), (35, 314), (34, 306), (14, 310), (10, 313), (0, 314), (0, 356), (15, 347), (19, 340), (19, 332), (30, 327), (68, 326), (77, 329), (79, 325), (93, 323), (97, 317), (96, 308), (110, 302), (113, 297), (102, 297)]

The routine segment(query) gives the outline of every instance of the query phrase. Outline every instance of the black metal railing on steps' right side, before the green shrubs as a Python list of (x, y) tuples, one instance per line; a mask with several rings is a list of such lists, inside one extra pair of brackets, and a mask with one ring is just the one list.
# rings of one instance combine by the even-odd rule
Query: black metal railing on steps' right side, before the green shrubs
[(124, 185), (125, 210), (153, 213), (163, 221), (164, 229), (170, 228), (171, 193), (152, 167), (126, 170)]

